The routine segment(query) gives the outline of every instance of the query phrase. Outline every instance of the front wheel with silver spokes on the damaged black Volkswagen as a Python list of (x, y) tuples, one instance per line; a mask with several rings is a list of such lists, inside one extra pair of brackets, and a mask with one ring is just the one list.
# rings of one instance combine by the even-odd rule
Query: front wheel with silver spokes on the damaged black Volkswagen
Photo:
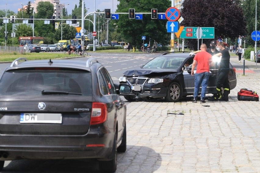
[(170, 84), (165, 100), (168, 102), (178, 102), (182, 98), (182, 88), (179, 83), (173, 82)]

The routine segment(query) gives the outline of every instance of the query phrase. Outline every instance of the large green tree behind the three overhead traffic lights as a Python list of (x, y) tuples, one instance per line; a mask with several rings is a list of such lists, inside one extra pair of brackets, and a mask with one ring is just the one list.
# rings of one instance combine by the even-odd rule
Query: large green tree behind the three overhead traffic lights
[[(170, 6), (171, 1), (157, 0), (118, 0), (116, 12), (128, 12), (129, 9), (135, 9), (135, 13), (151, 12), (151, 9), (157, 8), (158, 12), (165, 12)], [(114, 25), (115, 23), (115, 25)], [(149, 37), (158, 43), (167, 44), (170, 41), (170, 34), (165, 28), (166, 20), (151, 19), (151, 14), (143, 14), (143, 20), (129, 19), (128, 14), (120, 14), (119, 20), (112, 20), (109, 28), (115, 28), (116, 32), (121, 34), (123, 40), (132, 45), (143, 43), (142, 36), (146, 36), (146, 43)]]

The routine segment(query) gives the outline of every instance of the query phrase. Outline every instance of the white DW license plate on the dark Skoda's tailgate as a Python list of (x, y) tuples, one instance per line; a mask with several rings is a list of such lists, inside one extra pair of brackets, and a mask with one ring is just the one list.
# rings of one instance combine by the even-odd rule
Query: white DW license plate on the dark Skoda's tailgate
[(61, 114), (21, 113), (20, 123), (62, 123)]

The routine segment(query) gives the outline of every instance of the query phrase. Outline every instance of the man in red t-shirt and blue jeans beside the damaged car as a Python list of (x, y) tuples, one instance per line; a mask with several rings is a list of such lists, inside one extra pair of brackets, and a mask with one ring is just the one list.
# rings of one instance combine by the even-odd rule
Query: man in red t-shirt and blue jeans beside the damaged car
[(200, 94), (200, 103), (205, 103), (205, 95), (208, 86), (208, 78), (209, 78), (209, 66), (212, 62), (212, 56), (207, 50), (206, 44), (200, 45), (201, 52), (197, 53), (193, 59), (192, 67), (191, 67), (191, 75), (194, 75), (194, 69), (197, 65), (197, 70), (195, 74), (194, 81), (194, 94), (193, 94), (193, 103), (197, 103), (197, 97), (201, 84), (201, 94)]

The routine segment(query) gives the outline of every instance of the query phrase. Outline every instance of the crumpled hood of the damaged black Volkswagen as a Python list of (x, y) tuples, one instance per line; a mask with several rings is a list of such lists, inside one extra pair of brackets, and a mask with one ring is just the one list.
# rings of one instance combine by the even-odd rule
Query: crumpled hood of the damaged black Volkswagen
[(135, 69), (135, 70), (128, 70), (123, 74), (125, 76), (142, 76), (142, 75), (149, 75), (151, 73), (176, 73), (178, 70), (175, 69)]

